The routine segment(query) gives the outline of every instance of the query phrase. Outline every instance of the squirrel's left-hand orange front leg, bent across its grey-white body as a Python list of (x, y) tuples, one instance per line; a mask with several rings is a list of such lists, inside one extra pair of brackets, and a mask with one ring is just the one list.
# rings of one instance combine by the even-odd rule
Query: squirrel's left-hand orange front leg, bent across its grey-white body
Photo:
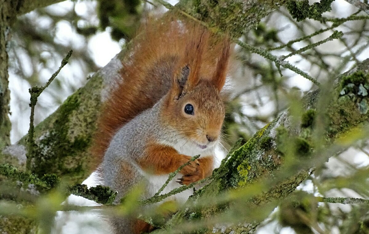
[[(173, 147), (152, 143), (146, 147), (143, 157), (138, 160), (138, 164), (143, 170), (160, 175), (174, 172), (190, 159), (190, 156), (178, 153)], [(199, 166), (200, 160), (196, 159), (190, 162), (189, 165), (184, 166), (180, 173), (184, 175), (196, 173)]]

